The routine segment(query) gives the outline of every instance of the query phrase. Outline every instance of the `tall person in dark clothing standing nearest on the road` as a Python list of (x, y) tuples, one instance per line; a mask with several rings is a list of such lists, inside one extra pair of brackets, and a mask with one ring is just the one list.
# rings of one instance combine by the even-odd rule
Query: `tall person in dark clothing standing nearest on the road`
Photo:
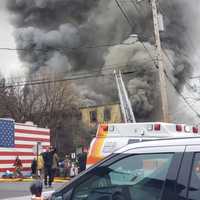
[(43, 153), (44, 160), (44, 185), (51, 187), (52, 185), (52, 164), (53, 164), (53, 151), (52, 147), (48, 148), (46, 152)]

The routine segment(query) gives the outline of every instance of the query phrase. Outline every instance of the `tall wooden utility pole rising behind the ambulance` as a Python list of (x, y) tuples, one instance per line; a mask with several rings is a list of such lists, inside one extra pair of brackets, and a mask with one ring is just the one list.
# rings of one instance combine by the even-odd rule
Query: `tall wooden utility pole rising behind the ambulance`
[(160, 42), (157, 1), (158, 0), (151, 0), (151, 6), (152, 6), (152, 13), (153, 13), (153, 25), (154, 25), (154, 34), (155, 34), (155, 42), (156, 42), (157, 62), (158, 62), (158, 67), (159, 67), (163, 121), (169, 122), (167, 84), (166, 84), (165, 68), (163, 65), (162, 48), (161, 48), (161, 42)]

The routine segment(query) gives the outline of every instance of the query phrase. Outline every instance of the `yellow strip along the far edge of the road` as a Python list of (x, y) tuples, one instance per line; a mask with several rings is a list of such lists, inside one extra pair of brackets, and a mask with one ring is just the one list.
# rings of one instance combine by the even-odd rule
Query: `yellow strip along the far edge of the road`
[[(0, 183), (14, 183), (14, 182), (32, 182), (34, 178), (0, 178)], [(55, 183), (66, 183), (70, 178), (55, 178)]]

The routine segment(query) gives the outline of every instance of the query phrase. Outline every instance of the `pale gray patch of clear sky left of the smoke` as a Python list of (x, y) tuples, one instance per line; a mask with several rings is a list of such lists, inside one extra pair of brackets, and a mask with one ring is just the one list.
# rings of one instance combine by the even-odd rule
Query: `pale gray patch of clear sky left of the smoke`
[[(15, 48), (14, 27), (10, 24), (9, 13), (5, 8), (6, 0), (0, 0), (0, 48)], [(21, 76), (23, 70), (16, 51), (0, 50), (0, 72), (5, 76)]]

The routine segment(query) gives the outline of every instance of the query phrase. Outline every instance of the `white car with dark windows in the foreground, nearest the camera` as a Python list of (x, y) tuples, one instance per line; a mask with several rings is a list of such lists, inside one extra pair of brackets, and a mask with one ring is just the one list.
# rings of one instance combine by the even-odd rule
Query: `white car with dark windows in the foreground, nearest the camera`
[(52, 200), (200, 199), (200, 137), (127, 145), (89, 168)]

